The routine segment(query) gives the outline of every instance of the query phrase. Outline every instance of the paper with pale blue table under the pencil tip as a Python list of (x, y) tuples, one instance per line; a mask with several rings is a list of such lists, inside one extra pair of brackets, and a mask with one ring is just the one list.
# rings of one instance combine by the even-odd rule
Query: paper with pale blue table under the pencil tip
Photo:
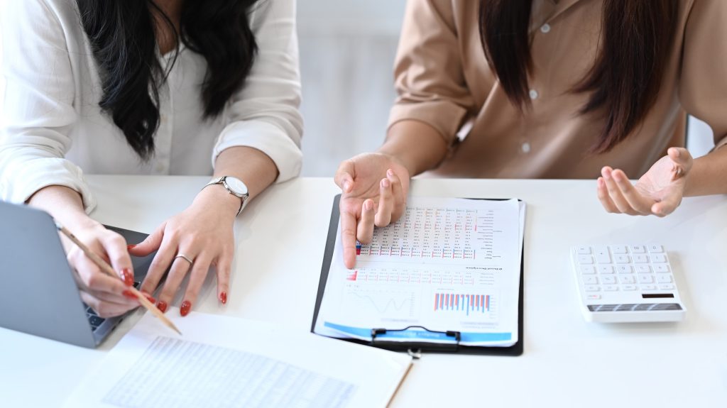
[(66, 407), (386, 407), (411, 366), (261, 322), (168, 315), (183, 336), (145, 314)]

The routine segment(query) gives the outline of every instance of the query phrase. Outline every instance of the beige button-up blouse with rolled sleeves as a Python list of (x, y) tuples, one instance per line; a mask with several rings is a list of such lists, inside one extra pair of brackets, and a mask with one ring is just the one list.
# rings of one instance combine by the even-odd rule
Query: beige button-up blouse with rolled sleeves
[(727, 144), (726, 0), (678, 1), (678, 33), (654, 107), (624, 142), (598, 155), (587, 150), (603, 119), (579, 115), (589, 94), (569, 90), (595, 61), (603, 0), (533, 1), (532, 109), (521, 114), (485, 59), (480, 1), (409, 0), (389, 126), (422, 121), (451, 144), (431, 173), (579, 179), (595, 178), (608, 165), (638, 177), (667, 147), (684, 145), (685, 111), (710, 125), (718, 147)]

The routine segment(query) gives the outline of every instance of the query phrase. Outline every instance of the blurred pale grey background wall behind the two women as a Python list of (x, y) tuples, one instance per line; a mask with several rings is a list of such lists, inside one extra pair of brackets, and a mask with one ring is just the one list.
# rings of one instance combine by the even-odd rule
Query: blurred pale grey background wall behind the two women
[[(0, 0), (0, 12), (6, 1), (28, 0)], [(405, 3), (298, 1), (305, 118), (302, 176), (332, 176), (341, 160), (374, 150), (383, 141), (395, 98), (392, 68)], [(0, 42), (0, 67), (1, 58)], [(690, 118), (687, 147), (692, 155), (704, 155), (712, 146), (709, 126)]]

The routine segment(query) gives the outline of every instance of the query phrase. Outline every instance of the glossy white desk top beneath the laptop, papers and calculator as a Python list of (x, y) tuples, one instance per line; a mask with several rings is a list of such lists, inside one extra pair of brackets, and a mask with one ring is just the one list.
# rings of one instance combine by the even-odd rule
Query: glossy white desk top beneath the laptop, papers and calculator
[[(207, 178), (89, 181), (99, 199), (96, 219), (150, 232), (182, 211)], [(297, 179), (254, 200), (236, 226), (228, 305), (217, 305), (208, 280), (195, 310), (309, 330), (336, 193), (331, 179)], [(393, 407), (727, 407), (726, 197), (688, 198), (657, 219), (605, 213), (595, 181), (427, 179), (414, 181), (411, 194), (526, 201), (525, 352), (425, 355)], [(686, 321), (586, 323), (569, 248), (589, 242), (664, 244)], [(126, 319), (97, 350), (0, 329), (0, 406), (62, 404), (137, 319)]]

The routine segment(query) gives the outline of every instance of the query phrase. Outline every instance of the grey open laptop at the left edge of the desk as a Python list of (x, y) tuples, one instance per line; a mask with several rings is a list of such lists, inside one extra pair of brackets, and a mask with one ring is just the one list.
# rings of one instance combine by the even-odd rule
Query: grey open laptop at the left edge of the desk
[[(147, 234), (114, 227), (126, 242)], [(154, 253), (132, 257), (140, 285)], [(0, 327), (94, 348), (124, 316), (103, 319), (81, 301), (60, 236), (45, 211), (0, 201)]]

